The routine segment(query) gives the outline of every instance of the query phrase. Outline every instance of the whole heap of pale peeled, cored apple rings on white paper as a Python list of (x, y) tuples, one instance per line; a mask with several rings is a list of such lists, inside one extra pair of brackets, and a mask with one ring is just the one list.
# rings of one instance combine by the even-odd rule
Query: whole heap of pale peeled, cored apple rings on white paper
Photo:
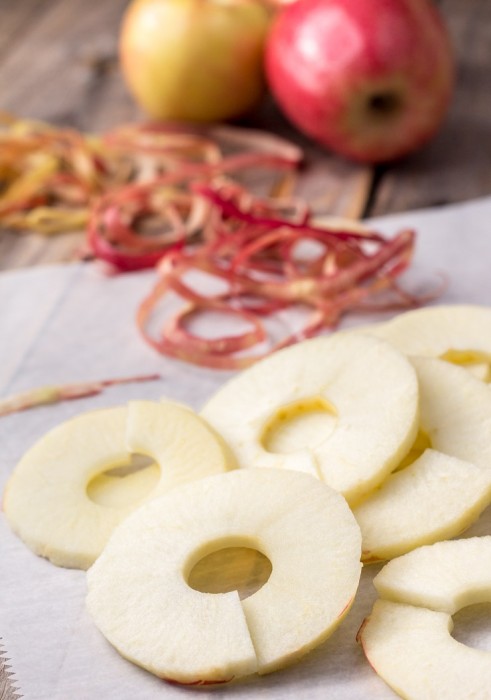
[[(170, 401), (83, 414), (27, 451), (5, 515), (37, 554), (89, 569), (96, 625), (166, 680), (291, 663), (341, 623), (361, 562), (389, 559), (358, 635), (370, 664), (410, 700), (487, 699), (489, 653), (450, 631), (457, 609), (491, 601), (491, 537), (451, 540), (491, 504), (490, 337), (489, 308), (415, 310), (276, 352), (200, 415)], [(132, 453), (153, 464), (108, 471)], [(270, 560), (262, 588), (192, 588), (230, 547)]]

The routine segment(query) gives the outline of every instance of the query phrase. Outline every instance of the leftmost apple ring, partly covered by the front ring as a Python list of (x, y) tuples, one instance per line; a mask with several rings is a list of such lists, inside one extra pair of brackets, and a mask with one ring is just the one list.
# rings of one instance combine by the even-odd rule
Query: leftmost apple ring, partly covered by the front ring
[[(112, 468), (124, 473), (133, 453), (155, 463), (124, 478), (111, 475)], [(79, 415), (36, 442), (7, 483), (3, 510), (36, 554), (86, 569), (146, 499), (234, 466), (223, 440), (190, 409), (133, 401)]]

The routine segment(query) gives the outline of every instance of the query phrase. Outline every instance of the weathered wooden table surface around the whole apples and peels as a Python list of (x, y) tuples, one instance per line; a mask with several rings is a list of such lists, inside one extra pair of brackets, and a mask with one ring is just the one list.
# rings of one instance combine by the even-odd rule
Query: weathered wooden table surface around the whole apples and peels
[[(117, 58), (128, 0), (0, 0), (0, 108), (83, 130), (142, 118)], [(305, 148), (299, 194), (318, 213), (350, 217), (443, 205), (491, 194), (491, 3), (439, 0), (458, 77), (449, 116), (434, 141), (399, 163), (349, 163), (289, 126), (270, 99), (248, 125)], [(430, 69), (430, 67), (429, 67)], [(0, 269), (73, 259), (83, 233), (46, 239), (0, 232)]]

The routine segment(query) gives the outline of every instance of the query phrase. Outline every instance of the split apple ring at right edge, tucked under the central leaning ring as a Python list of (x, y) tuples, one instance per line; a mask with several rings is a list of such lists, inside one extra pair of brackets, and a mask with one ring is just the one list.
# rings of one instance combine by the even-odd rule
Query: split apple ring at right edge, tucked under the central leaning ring
[(365, 563), (455, 537), (491, 503), (489, 388), (442, 360), (411, 362), (419, 382), (420, 433), (403, 468), (353, 510)]

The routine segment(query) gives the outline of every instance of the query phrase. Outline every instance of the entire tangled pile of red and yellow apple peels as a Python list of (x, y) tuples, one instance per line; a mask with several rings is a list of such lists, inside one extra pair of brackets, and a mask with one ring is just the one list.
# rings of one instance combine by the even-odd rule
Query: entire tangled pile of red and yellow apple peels
[[(280, 196), (302, 152), (272, 134), (134, 124), (96, 137), (3, 121), (0, 226), (49, 235), (86, 228), (89, 256), (106, 272), (156, 267), (137, 324), (159, 353), (242, 369), (335, 328), (347, 313), (408, 309), (435, 296), (410, 294), (398, 282), (414, 231), (389, 237), (347, 220), (321, 226), (306, 202)], [(274, 196), (245, 185), (251, 172), (264, 171), (275, 178)], [(218, 286), (211, 295), (210, 284)], [(303, 314), (303, 323), (276, 337), (271, 327), (284, 311)], [(217, 314), (239, 330), (214, 340), (194, 331)]]

